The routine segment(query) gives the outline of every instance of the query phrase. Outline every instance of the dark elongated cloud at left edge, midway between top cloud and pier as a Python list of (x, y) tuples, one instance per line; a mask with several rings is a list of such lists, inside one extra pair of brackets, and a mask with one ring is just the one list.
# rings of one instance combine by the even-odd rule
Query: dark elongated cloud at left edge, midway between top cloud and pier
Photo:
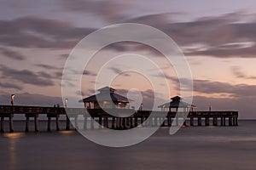
[(18, 71), (9, 68), (5, 65), (0, 65), (0, 71), (2, 72), (2, 78), (9, 78), (14, 81), (19, 81), (26, 84), (32, 84), (36, 86), (53, 86), (54, 82), (51, 80), (51, 76), (43, 71), (34, 72), (29, 70)]

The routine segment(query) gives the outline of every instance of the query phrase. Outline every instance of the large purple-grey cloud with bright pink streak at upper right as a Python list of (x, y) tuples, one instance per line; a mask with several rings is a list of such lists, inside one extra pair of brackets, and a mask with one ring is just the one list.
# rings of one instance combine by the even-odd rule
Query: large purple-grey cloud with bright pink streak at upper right
[[(187, 22), (172, 22), (172, 14), (148, 14), (132, 18), (154, 26), (172, 37), (187, 56), (217, 58), (254, 58), (256, 54), (255, 21), (239, 22), (241, 13), (224, 14)], [(125, 49), (119, 48), (119, 49)]]

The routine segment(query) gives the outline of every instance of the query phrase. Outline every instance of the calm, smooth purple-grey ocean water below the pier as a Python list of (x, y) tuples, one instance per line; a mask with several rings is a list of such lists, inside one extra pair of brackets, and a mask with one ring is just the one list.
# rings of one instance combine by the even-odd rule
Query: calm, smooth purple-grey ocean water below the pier
[(94, 144), (74, 130), (56, 132), (54, 125), (49, 133), (46, 122), (39, 122), (39, 133), (24, 133), (24, 122), (15, 122), (16, 133), (0, 134), (0, 169), (256, 169), (256, 121), (183, 127), (172, 136), (169, 127), (160, 127), (149, 139), (125, 148)]

